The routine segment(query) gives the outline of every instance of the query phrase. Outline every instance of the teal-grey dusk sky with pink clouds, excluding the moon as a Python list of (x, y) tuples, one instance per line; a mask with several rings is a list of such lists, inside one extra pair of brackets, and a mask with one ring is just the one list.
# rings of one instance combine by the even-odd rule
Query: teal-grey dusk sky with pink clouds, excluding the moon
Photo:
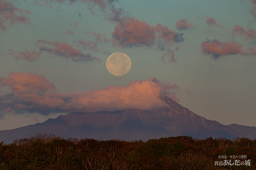
[[(164, 107), (256, 126), (256, 0), (0, 0), (0, 130)], [(132, 62), (108, 72), (111, 53)]]

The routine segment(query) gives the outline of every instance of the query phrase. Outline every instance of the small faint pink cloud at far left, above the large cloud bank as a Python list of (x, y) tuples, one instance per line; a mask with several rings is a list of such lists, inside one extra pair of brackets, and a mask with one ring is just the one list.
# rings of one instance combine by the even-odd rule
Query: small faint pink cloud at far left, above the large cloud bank
[(15, 59), (20, 59), (20, 60), (27, 60), (27, 61), (36, 61), (40, 59), (41, 56), (41, 52), (30, 52), (28, 50), (26, 50), (25, 52), (21, 51), (21, 52), (15, 52), (11, 49), (8, 49), (9, 54), (15, 58)]

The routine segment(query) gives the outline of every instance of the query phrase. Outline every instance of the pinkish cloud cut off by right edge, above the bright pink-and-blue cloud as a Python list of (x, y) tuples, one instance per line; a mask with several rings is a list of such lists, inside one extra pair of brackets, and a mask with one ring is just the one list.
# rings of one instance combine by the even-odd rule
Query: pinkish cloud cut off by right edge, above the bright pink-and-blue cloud
[(244, 36), (244, 39), (252, 39), (256, 40), (256, 30), (249, 29), (246, 31), (243, 27), (240, 25), (235, 25), (233, 29), (231, 30), (232, 36), (235, 36), (237, 34)]

